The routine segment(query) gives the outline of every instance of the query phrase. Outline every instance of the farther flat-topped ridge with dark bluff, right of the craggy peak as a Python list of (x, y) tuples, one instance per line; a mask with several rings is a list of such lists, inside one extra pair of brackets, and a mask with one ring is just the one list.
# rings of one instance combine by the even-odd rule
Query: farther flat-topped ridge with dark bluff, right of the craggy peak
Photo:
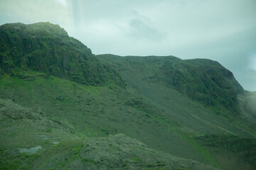
[(233, 73), (218, 62), (156, 56), (99, 55), (98, 58), (121, 70), (128, 69), (133, 74), (141, 74), (140, 81), (164, 82), (166, 86), (176, 89), (195, 101), (213, 106), (216, 111), (225, 108), (230, 113), (238, 113), (237, 96), (242, 94), (242, 86), (235, 80)]

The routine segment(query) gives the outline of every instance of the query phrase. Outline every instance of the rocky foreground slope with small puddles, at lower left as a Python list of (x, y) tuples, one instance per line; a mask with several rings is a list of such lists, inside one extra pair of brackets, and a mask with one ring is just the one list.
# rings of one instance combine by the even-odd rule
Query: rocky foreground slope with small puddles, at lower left
[[(0, 98), (0, 169), (214, 169), (117, 134), (84, 137), (63, 119)], [(25, 131), (24, 131), (25, 130)]]

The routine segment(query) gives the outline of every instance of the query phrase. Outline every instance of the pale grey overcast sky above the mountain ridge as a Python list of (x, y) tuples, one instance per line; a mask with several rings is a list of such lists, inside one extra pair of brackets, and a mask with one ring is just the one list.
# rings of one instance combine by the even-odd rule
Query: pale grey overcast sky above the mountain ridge
[(42, 21), (96, 55), (216, 60), (256, 91), (256, 0), (0, 1), (0, 25)]

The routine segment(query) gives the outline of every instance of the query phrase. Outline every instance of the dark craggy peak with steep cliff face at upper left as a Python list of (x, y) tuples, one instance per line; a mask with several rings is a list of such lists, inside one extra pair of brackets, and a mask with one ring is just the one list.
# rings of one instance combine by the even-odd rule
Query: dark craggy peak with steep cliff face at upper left
[(114, 69), (58, 25), (11, 23), (0, 26), (0, 68), (10, 75), (33, 69), (82, 84), (124, 85)]

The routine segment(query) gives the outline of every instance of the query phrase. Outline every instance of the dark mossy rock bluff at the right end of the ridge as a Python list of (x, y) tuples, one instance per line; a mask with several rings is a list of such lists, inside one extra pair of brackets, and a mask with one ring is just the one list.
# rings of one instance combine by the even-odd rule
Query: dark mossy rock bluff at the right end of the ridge
[(167, 84), (207, 106), (224, 106), (232, 113), (238, 111), (237, 95), (243, 89), (233, 73), (212, 60), (167, 60), (160, 67)]

